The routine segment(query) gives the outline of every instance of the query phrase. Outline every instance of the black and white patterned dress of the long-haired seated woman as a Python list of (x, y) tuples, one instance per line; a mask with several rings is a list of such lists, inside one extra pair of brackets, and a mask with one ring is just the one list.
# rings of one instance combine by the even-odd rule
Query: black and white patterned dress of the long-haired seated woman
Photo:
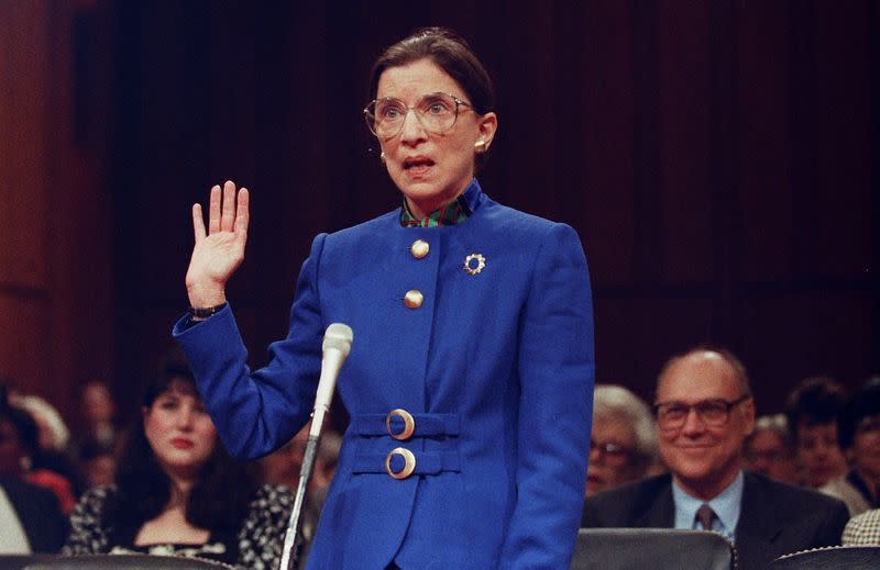
[(235, 536), (210, 530), (204, 545), (134, 546), (133, 538), (111, 544), (111, 528), (103, 511), (113, 487), (96, 487), (79, 500), (70, 514), (70, 536), (63, 555), (150, 554), (204, 558), (246, 570), (275, 570), (282, 557), (284, 535), (294, 507), (294, 495), (282, 485), (261, 487)]

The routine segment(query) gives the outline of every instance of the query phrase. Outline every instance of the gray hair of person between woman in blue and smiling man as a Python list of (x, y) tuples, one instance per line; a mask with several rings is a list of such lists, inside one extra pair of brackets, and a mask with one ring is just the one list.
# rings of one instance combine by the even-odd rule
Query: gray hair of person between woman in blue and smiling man
[(596, 384), (593, 392), (593, 418), (623, 420), (636, 436), (636, 461), (646, 467), (658, 457), (657, 427), (645, 401), (622, 385)]

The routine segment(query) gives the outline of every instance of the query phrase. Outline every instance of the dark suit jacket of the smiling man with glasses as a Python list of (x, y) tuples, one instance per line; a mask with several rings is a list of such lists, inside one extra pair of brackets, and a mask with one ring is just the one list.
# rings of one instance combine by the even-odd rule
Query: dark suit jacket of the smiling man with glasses
[[(779, 556), (839, 545), (848, 518), (846, 505), (836, 499), (746, 472), (735, 533), (739, 568), (763, 570)], [(672, 528), (674, 524), (669, 474), (587, 499), (581, 522), (591, 528)]]

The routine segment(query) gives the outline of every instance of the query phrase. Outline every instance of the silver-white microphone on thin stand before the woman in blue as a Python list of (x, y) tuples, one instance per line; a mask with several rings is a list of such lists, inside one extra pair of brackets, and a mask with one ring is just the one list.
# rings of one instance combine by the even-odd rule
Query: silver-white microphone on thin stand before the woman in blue
[(337, 377), (351, 351), (352, 340), (354, 340), (354, 334), (351, 327), (342, 323), (331, 324), (323, 334), (321, 376), (318, 379), (318, 391), (315, 394), (311, 427), (309, 427), (309, 437), (306, 440), (306, 450), (302, 454), (302, 467), (299, 471), (299, 482), (296, 487), (294, 510), (290, 512), (287, 533), (284, 535), (284, 549), (282, 550), (282, 562), (278, 566), (279, 570), (292, 570), (296, 560), (294, 546), (302, 526), (300, 515), (302, 514), (302, 505), (306, 502), (306, 491), (311, 480), (311, 472), (315, 470), (315, 457), (318, 455), (318, 445), (321, 439), (321, 425), (323, 424), (324, 415), (330, 411)]

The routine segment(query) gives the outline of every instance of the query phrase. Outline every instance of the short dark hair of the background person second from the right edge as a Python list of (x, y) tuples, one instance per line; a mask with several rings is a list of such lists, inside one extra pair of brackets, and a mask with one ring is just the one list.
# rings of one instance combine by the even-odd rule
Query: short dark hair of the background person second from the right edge
[(794, 442), (798, 442), (798, 426), (802, 423), (836, 424), (845, 404), (846, 390), (833, 378), (814, 376), (804, 379), (785, 402), (785, 416)]

